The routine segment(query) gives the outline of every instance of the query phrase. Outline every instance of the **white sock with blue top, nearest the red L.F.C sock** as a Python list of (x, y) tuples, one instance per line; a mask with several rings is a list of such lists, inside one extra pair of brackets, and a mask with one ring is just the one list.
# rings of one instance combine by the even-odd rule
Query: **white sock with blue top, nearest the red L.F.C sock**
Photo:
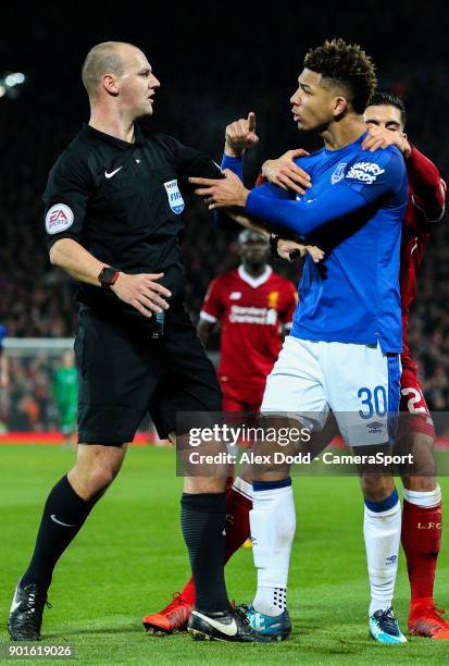
[(365, 501), (363, 535), (371, 587), (369, 614), (372, 616), (376, 610), (386, 610), (392, 603), (401, 538), (401, 506), (396, 490), (383, 502)]

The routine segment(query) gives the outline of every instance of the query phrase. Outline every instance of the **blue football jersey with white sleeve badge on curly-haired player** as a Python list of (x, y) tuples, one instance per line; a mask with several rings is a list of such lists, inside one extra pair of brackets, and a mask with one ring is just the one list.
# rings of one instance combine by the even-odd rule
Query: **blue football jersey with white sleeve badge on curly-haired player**
[(246, 211), (317, 245), (307, 256), (291, 335), (310, 341), (374, 345), (402, 350), (399, 292), (400, 238), (408, 201), (406, 165), (389, 146), (362, 150), (365, 134), (339, 150), (323, 148), (296, 160), (312, 187), (291, 194), (264, 184)]

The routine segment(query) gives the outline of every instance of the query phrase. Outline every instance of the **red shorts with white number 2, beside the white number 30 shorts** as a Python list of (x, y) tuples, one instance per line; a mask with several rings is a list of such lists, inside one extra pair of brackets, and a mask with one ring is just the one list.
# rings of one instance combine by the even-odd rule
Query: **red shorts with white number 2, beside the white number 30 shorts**
[(410, 356), (401, 357), (400, 411), (410, 416), (400, 419), (400, 431), (422, 432), (435, 439), (435, 428), (417, 379), (417, 366)]

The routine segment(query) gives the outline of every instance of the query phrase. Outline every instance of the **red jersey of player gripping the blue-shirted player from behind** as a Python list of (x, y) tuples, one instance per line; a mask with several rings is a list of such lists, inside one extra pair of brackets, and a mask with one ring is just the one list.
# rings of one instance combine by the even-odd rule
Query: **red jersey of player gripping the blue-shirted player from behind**
[(446, 197), (446, 184), (438, 169), (414, 146), (412, 155), (406, 160), (406, 165), (409, 177), (409, 205), (402, 229), (399, 278), (402, 301), (402, 361), (410, 359), (407, 330), (410, 306), (416, 297), (417, 273), (434, 223), (438, 222), (445, 212)]

